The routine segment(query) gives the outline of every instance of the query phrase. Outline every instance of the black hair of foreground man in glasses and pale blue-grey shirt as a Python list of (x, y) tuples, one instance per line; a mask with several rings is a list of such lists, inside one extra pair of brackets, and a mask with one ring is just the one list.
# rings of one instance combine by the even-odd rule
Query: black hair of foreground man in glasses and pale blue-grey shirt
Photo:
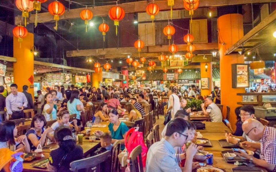
[(175, 118), (168, 123), (166, 136), (171, 136), (175, 132), (183, 133), (189, 130), (190, 124), (182, 118)]

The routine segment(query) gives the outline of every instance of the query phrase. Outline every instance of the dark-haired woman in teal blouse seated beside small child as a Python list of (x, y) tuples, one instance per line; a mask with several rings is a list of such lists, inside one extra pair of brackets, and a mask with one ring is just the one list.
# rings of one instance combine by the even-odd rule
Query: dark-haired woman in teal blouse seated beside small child
[[(116, 140), (120, 140), (121, 150), (124, 150), (124, 139), (129, 128), (126, 124), (119, 120), (119, 114), (117, 110), (111, 110), (111, 112), (108, 114), (108, 117), (110, 122), (108, 125), (108, 130), (110, 131), (112, 137), (111, 143), (113, 144)], [(103, 132), (96, 131), (96, 134), (102, 135)]]

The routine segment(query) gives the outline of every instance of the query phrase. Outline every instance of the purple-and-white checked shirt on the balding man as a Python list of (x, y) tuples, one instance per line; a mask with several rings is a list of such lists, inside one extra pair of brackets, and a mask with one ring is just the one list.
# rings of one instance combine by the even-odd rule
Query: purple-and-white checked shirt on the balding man
[[(261, 142), (260, 159), (268, 164), (276, 164), (276, 129), (265, 127)], [(276, 172), (276, 166), (271, 172)]]

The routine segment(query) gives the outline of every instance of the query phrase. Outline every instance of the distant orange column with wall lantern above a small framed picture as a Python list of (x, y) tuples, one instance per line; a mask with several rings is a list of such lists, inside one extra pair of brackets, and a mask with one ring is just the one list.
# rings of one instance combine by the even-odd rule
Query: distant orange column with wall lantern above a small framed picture
[[(208, 65), (207, 71), (205, 64)], [(209, 89), (201, 89), (201, 95), (208, 96), (212, 91), (212, 62), (201, 62), (200, 63), (200, 78), (209, 78)]]

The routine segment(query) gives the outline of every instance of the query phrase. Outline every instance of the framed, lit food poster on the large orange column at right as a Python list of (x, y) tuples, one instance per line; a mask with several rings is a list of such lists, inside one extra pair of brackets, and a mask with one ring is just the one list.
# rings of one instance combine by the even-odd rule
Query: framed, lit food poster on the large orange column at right
[(232, 88), (249, 87), (249, 65), (232, 64)]

